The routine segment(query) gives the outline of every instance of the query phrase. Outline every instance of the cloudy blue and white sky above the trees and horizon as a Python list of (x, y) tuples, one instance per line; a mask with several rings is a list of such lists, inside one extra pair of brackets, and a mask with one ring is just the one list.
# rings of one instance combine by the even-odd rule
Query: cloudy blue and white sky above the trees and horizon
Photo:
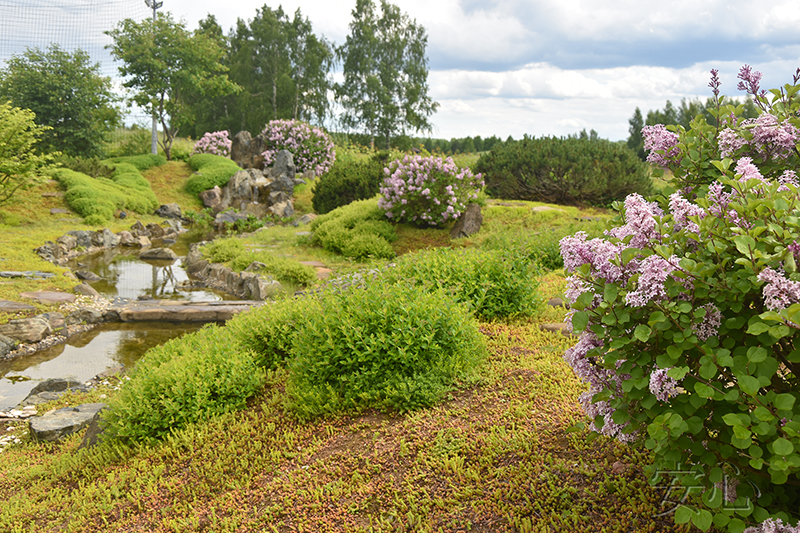
[[(0, 10), (6, 2), (59, 1), (0, 0)], [(646, 112), (668, 99), (708, 97), (711, 68), (720, 71), (723, 93), (738, 96), (736, 73), (745, 63), (764, 73), (767, 88), (790, 81), (800, 67), (797, 0), (394, 3), (428, 32), (430, 94), (441, 104), (432, 119), (436, 137), (518, 138), (585, 128), (620, 140), (637, 106)], [(228, 30), (264, 4), (164, 0), (162, 9), (190, 28), (212, 13)], [(280, 4), (288, 13), (299, 8), (317, 34), (341, 44), (355, 0)]]

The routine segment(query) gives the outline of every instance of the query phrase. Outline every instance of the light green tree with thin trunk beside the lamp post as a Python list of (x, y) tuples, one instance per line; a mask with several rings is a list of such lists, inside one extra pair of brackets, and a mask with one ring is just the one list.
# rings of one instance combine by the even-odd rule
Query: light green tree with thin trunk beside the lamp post
[(127, 78), (123, 85), (133, 89), (133, 102), (161, 122), (159, 142), (167, 159), (181, 123), (194, 120), (194, 100), (240, 90), (228, 79), (219, 40), (189, 32), (169, 13), (142, 22), (125, 19), (106, 33), (114, 39), (111, 53), (123, 62), (119, 72)]

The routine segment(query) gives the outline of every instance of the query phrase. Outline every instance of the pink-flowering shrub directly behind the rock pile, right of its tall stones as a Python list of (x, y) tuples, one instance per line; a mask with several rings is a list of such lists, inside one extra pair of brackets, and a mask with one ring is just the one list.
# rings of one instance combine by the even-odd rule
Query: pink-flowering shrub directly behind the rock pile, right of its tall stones
[(327, 133), (299, 120), (271, 120), (261, 132), (267, 142), (264, 165), (269, 166), (281, 150), (289, 150), (294, 156), (298, 172), (313, 170), (322, 176), (330, 170), (336, 159), (333, 141)]

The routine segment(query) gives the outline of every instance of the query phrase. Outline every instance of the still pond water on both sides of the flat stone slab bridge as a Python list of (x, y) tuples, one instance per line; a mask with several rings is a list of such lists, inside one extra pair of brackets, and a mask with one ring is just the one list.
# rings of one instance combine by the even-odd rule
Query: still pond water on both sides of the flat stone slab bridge
[[(198, 236), (184, 234), (170, 246), (179, 256), (188, 252)], [(90, 282), (112, 301), (137, 298), (218, 301), (235, 296), (206, 288), (193, 288), (191, 279), (175, 261), (143, 261), (138, 249), (117, 248), (82, 256), (69, 266), (102, 278)], [(0, 362), (0, 410), (21, 402), (37, 383), (49, 378), (72, 377), (85, 382), (107, 368), (123, 364), (130, 368), (150, 348), (199, 329), (202, 324), (169, 322), (110, 323), (70, 337), (53, 346), (13, 361)]]

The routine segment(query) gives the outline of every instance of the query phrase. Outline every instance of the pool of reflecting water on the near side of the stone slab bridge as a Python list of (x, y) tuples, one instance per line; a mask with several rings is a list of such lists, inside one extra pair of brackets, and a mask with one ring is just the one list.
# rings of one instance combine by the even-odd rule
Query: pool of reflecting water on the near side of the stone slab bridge
[(105, 324), (29, 356), (0, 363), (0, 410), (21, 402), (39, 381), (75, 378), (84, 382), (123, 364), (131, 368), (150, 348), (196, 331), (202, 324), (135, 322)]

